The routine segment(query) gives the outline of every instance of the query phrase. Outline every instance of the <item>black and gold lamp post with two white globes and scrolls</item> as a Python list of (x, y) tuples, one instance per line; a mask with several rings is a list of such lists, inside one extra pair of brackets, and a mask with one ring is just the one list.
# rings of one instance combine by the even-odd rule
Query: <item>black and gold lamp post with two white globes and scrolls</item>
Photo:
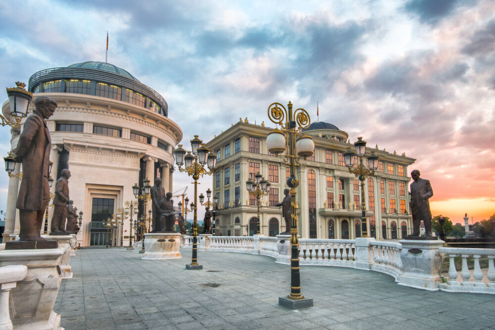
[(296, 177), (296, 166), (299, 166), (299, 157), (305, 158), (313, 155), (314, 142), (309, 135), (302, 133), (302, 130), (309, 127), (311, 123), (306, 110), (299, 108), (293, 111), (290, 101), (287, 107), (288, 109), (277, 102), (268, 107), (268, 118), (280, 125), (281, 129), (275, 128), (270, 132), (266, 138), (266, 146), (271, 153), (276, 155), (286, 151), (285, 161), (291, 169), (291, 176), (287, 180), (287, 185), (291, 188), (291, 293), (287, 297), (279, 297), (279, 305), (296, 310), (313, 307), (313, 299), (304, 298), (301, 294), (296, 203), (296, 187), (299, 185), (299, 180)]

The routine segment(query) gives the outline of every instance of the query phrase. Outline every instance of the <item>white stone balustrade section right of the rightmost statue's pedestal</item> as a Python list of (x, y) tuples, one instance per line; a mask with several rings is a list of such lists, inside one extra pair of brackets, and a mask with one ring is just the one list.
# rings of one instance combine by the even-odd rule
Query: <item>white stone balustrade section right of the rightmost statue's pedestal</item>
[[(445, 283), (440, 283), (440, 289), (450, 292), (479, 292), (495, 294), (495, 249), (479, 248), (446, 248), (439, 249), (440, 253), (449, 260), (448, 278)], [(455, 267), (454, 258), (460, 257), (462, 266), (460, 270)], [(488, 258), (488, 271), (485, 273), (480, 267), (480, 258)], [(470, 271), (467, 259), (473, 258), (474, 270)]]

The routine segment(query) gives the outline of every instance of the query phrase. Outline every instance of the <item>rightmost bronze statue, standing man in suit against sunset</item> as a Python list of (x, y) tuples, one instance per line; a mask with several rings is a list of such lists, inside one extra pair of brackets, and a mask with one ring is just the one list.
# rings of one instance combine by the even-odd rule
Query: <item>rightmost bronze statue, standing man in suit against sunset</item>
[(411, 177), (414, 180), (411, 183), (411, 201), (409, 206), (412, 213), (412, 234), (409, 236), (419, 236), (421, 220), (425, 224), (426, 236), (432, 234), (432, 214), (430, 211), (430, 202), (428, 199), (433, 196), (432, 186), (430, 181), (419, 177), (420, 173), (417, 169), (411, 172)]

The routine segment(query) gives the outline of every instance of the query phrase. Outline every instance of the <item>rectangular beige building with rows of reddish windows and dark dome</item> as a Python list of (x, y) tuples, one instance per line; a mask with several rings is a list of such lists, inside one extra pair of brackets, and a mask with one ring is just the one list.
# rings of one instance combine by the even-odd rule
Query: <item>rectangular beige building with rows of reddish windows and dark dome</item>
[[(207, 147), (217, 154), (213, 193), (219, 197), (217, 233), (252, 235), (257, 217), (257, 201), (246, 190), (248, 178), (260, 173), (271, 183), (262, 198), (261, 233), (276, 235), (285, 231), (280, 207), (288, 188), (289, 166), (282, 157), (270, 154), (266, 137), (273, 128), (239, 121), (215, 136)], [(360, 181), (349, 173), (343, 154), (354, 150), (345, 131), (326, 122), (312, 123), (307, 130), (314, 139), (314, 155), (297, 167), (298, 229), (302, 238), (348, 238), (361, 235)], [(357, 140), (357, 139), (355, 139)], [(370, 231), (377, 239), (399, 239), (409, 234), (408, 166), (414, 159), (377, 148), (366, 154), (378, 155), (379, 168), (365, 181), (366, 210)], [(354, 162), (357, 165), (357, 158)]]

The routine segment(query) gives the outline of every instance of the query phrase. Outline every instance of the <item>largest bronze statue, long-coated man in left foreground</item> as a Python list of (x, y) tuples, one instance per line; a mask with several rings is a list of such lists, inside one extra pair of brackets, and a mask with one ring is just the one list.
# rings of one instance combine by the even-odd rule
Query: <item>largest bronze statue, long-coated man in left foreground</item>
[(15, 161), (22, 163), (22, 181), (17, 195), (19, 239), (46, 241), (40, 236), (45, 210), (50, 200), (48, 168), (51, 139), (45, 119), (57, 103), (47, 96), (36, 99), (35, 110), (25, 121), (15, 150)]

